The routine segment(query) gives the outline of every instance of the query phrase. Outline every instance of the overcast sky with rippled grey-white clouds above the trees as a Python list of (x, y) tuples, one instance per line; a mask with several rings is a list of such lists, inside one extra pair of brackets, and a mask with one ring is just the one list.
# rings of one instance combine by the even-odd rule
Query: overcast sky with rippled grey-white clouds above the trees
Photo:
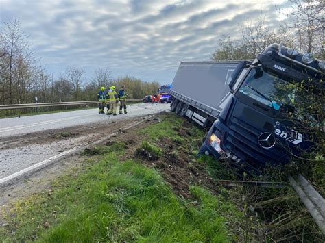
[(285, 0), (0, 0), (0, 21), (19, 18), (40, 62), (56, 77), (65, 68), (109, 68), (169, 84), (180, 61), (210, 60), (224, 35), (240, 36), (241, 23), (283, 19)]

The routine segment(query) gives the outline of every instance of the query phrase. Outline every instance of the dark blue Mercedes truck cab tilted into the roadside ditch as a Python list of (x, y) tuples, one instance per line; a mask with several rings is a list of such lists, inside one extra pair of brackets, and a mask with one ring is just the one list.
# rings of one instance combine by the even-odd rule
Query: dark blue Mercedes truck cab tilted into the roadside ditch
[(313, 117), (317, 111), (304, 116), (312, 102), (307, 91), (313, 87), (322, 95), (324, 70), (324, 61), (282, 43), (265, 48), (252, 62), (240, 62), (229, 82), (232, 94), (199, 153), (259, 170), (308, 151), (313, 140), (306, 124), (322, 125)]

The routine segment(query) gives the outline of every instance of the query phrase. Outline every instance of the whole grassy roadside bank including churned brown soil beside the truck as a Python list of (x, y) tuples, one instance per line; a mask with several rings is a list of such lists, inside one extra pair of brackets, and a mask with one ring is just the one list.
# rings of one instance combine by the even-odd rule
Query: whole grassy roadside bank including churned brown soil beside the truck
[[(172, 114), (84, 151), (84, 166), (7, 208), (4, 242), (254, 240), (198, 161), (204, 131)], [(245, 235), (245, 238), (243, 238)]]

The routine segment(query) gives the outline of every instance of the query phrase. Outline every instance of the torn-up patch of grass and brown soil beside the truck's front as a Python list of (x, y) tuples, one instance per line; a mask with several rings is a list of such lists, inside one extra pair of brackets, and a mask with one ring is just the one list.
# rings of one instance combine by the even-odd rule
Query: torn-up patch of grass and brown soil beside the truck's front
[[(202, 186), (213, 194), (219, 191), (217, 183), (204, 168), (204, 162), (197, 160), (204, 137), (202, 128), (174, 114), (165, 113), (160, 116), (159, 123), (150, 121), (144, 129), (138, 129), (138, 136), (149, 146), (161, 150), (161, 155), (154, 159), (139, 156), (143, 146), (136, 144), (134, 157), (147, 166), (160, 170), (164, 179), (170, 184), (178, 196), (191, 198), (190, 186)], [(133, 155), (132, 155), (133, 157)]]

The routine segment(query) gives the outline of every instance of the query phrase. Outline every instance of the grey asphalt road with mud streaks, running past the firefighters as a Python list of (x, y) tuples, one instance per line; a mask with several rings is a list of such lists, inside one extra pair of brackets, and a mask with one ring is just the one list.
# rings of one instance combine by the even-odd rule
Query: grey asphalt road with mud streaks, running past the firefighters
[(168, 109), (169, 104), (141, 103), (128, 105), (127, 115), (91, 109), (0, 119), (0, 179)]

